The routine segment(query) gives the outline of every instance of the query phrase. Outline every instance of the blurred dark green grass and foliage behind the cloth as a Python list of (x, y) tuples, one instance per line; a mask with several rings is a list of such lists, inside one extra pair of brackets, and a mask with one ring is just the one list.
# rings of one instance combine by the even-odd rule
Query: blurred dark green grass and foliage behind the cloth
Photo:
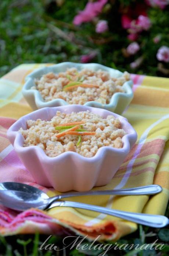
[[(141, 0), (109, 0), (92, 21), (74, 25), (73, 18), (86, 4), (87, 0), (0, 1), (0, 76), (21, 63), (85, 62), (83, 55), (92, 55), (90, 62), (122, 71), (169, 76), (169, 63), (156, 57), (161, 46), (169, 46), (169, 6), (161, 9)], [(139, 4), (151, 27), (139, 33), (140, 49), (129, 55), (126, 48), (131, 41), (121, 18)], [(98, 20), (108, 22), (108, 31), (95, 31)], [(130, 63), (135, 61), (139, 63), (132, 68)]]

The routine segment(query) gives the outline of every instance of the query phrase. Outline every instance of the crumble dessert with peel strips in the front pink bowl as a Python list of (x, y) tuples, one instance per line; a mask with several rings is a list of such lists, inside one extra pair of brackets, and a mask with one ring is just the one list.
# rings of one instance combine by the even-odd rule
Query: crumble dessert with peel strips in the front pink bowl
[(54, 157), (66, 151), (74, 151), (85, 157), (94, 156), (103, 146), (122, 148), (126, 132), (113, 115), (102, 118), (90, 111), (71, 114), (57, 111), (50, 121), (27, 120), (24, 147), (39, 146), (47, 156)]

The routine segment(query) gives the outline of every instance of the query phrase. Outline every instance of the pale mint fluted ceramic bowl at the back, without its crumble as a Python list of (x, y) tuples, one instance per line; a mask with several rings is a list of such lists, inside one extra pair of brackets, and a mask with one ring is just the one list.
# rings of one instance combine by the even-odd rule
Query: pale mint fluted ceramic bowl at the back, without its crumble
[[(88, 64), (81, 64), (81, 63), (74, 63), (74, 62), (62, 62), (56, 65), (51, 65), (48, 67), (40, 68), (28, 76), (26, 76), (25, 84), (22, 89), (22, 93), (25, 99), (28, 101), (30, 107), (33, 110), (37, 110), (39, 108), (44, 107), (58, 107), (63, 105), (69, 105), (65, 100), (61, 98), (57, 98), (51, 101), (45, 102), (40, 95), (38, 90), (30, 89), (32, 86), (35, 86), (35, 78), (40, 78), (41, 76), (47, 74), (48, 72), (59, 73), (65, 72), (68, 68), (77, 68), (81, 70), (83, 68), (89, 68), (91, 70), (104, 70), (109, 72), (110, 76), (112, 77), (120, 77), (123, 75), (122, 72), (116, 69), (108, 68), (106, 66), (97, 64), (97, 63), (88, 63)], [(133, 91), (132, 91), (132, 80), (125, 82), (122, 88), (125, 90), (125, 93), (114, 93), (109, 104), (101, 104), (96, 101), (88, 101), (84, 105), (96, 108), (104, 108), (106, 110), (112, 111), (117, 114), (122, 114), (125, 108), (130, 104), (133, 99)]]

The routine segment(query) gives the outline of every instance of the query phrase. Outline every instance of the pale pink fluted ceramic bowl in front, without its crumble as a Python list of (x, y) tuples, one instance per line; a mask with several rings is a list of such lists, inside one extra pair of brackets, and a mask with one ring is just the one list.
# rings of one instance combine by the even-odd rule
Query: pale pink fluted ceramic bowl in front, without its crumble
[[(21, 127), (27, 129), (26, 120), (36, 120), (37, 118), (50, 120), (56, 111), (71, 113), (72, 111), (86, 110), (99, 114), (103, 118), (106, 118), (107, 115), (114, 115), (119, 118), (122, 128), (127, 132), (122, 138), (123, 148), (104, 146), (98, 149), (92, 158), (86, 158), (72, 151), (51, 158), (38, 146), (23, 147), (24, 137), (18, 130)], [(54, 187), (60, 192), (87, 191), (94, 186), (108, 184), (137, 139), (136, 131), (126, 118), (108, 110), (84, 105), (65, 105), (36, 110), (16, 121), (8, 129), (7, 136), (35, 181), (45, 187)]]

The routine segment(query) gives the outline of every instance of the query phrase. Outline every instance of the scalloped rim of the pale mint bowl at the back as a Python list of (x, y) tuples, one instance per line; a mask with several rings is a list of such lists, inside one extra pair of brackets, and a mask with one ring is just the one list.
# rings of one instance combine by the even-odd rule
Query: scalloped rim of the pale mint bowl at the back
[[(97, 64), (97, 63), (85, 63), (84, 64), (84, 63), (75, 63), (75, 62), (61, 62), (61, 63), (55, 64), (55, 65), (39, 68), (39, 69), (36, 69), (33, 72), (31, 72), (28, 76), (25, 77), (26, 82), (23, 86), (22, 93), (27, 93), (28, 91), (31, 92), (31, 94), (35, 98), (36, 106), (43, 105), (43, 107), (48, 107), (49, 104), (69, 105), (65, 100), (63, 100), (61, 98), (57, 98), (57, 99), (50, 100), (50, 101), (44, 101), (38, 90), (30, 89), (30, 83), (31, 82), (34, 83), (34, 79), (38, 77), (37, 75), (40, 72), (44, 72), (44, 70), (47, 70), (42, 75), (44, 75), (48, 72), (51, 72), (51, 71), (57, 72), (57, 71), (54, 71), (54, 70), (57, 69), (57, 68), (64, 68), (64, 66), (66, 66), (66, 65), (70, 65), (69, 68), (71, 68), (71, 67), (75, 67), (75, 68), (83, 68), (83, 67), (84, 68), (85, 67), (92, 68), (92, 67), (94, 67), (96, 69), (100, 68), (102, 70), (105, 70), (105, 71), (109, 72), (110, 74), (114, 72), (116, 74), (116, 77), (120, 77), (123, 74), (119, 70), (112, 69), (112, 68), (109, 68), (107, 66)], [(59, 71), (59, 72), (61, 72), (61, 71)], [(132, 80), (126, 81), (122, 86), (122, 88), (124, 88), (126, 92), (125, 93), (122, 93), (122, 92), (114, 93), (108, 104), (101, 104), (97, 101), (87, 101), (83, 105), (86, 105), (86, 106), (91, 106), (91, 105), (93, 106), (94, 105), (94, 107), (98, 107), (98, 108), (116, 107), (117, 102), (118, 102), (120, 97), (133, 97), (132, 85), (133, 85)]]

